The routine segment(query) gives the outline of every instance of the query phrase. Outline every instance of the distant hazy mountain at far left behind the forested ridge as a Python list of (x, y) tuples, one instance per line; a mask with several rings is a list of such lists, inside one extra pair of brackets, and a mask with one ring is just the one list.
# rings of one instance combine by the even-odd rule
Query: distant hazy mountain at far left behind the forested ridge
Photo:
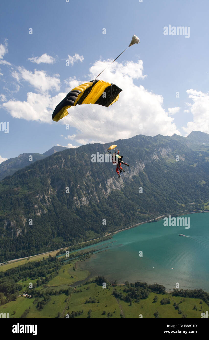
[(65, 147), (54, 146), (50, 150), (44, 152), (43, 154), (40, 153), (23, 153), (20, 154), (18, 157), (9, 158), (0, 164), (0, 181), (3, 180), (4, 177), (12, 175), (19, 169), (26, 167), (27, 165), (31, 164), (29, 157), (32, 156), (32, 162), (36, 162), (39, 159), (43, 159), (52, 155), (55, 152), (65, 150)]

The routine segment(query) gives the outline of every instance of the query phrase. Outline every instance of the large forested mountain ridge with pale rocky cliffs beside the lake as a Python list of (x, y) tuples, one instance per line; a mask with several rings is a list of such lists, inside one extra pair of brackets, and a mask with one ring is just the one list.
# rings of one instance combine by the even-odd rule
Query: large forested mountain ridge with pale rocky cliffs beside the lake
[(209, 151), (199, 140), (138, 135), (112, 143), (130, 164), (120, 179), (112, 163), (92, 162), (109, 147), (95, 143), (56, 152), (0, 182), (0, 262), (199, 210), (208, 201)]

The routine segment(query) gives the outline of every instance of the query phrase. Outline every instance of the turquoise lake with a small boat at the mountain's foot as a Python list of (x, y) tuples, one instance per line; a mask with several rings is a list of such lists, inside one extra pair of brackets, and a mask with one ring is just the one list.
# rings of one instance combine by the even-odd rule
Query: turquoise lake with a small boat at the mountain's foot
[(179, 283), (182, 289), (209, 291), (209, 213), (181, 217), (190, 218), (189, 229), (164, 226), (162, 219), (119, 232), (111, 240), (86, 247), (102, 248), (103, 251), (80, 262), (79, 267), (94, 276), (103, 275), (110, 282), (116, 279), (118, 283), (126, 280), (157, 282), (167, 291)]

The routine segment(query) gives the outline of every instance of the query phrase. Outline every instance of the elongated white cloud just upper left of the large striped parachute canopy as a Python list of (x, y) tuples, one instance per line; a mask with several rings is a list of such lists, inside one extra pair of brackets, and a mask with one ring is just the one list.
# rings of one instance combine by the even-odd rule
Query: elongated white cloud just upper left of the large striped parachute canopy
[(60, 79), (57, 77), (50, 77), (45, 71), (34, 70), (33, 73), (20, 66), (18, 67), (18, 71), (19, 78), (29, 82), (39, 92), (45, 92), (52, 89), (59, 91), (60, 89)]

